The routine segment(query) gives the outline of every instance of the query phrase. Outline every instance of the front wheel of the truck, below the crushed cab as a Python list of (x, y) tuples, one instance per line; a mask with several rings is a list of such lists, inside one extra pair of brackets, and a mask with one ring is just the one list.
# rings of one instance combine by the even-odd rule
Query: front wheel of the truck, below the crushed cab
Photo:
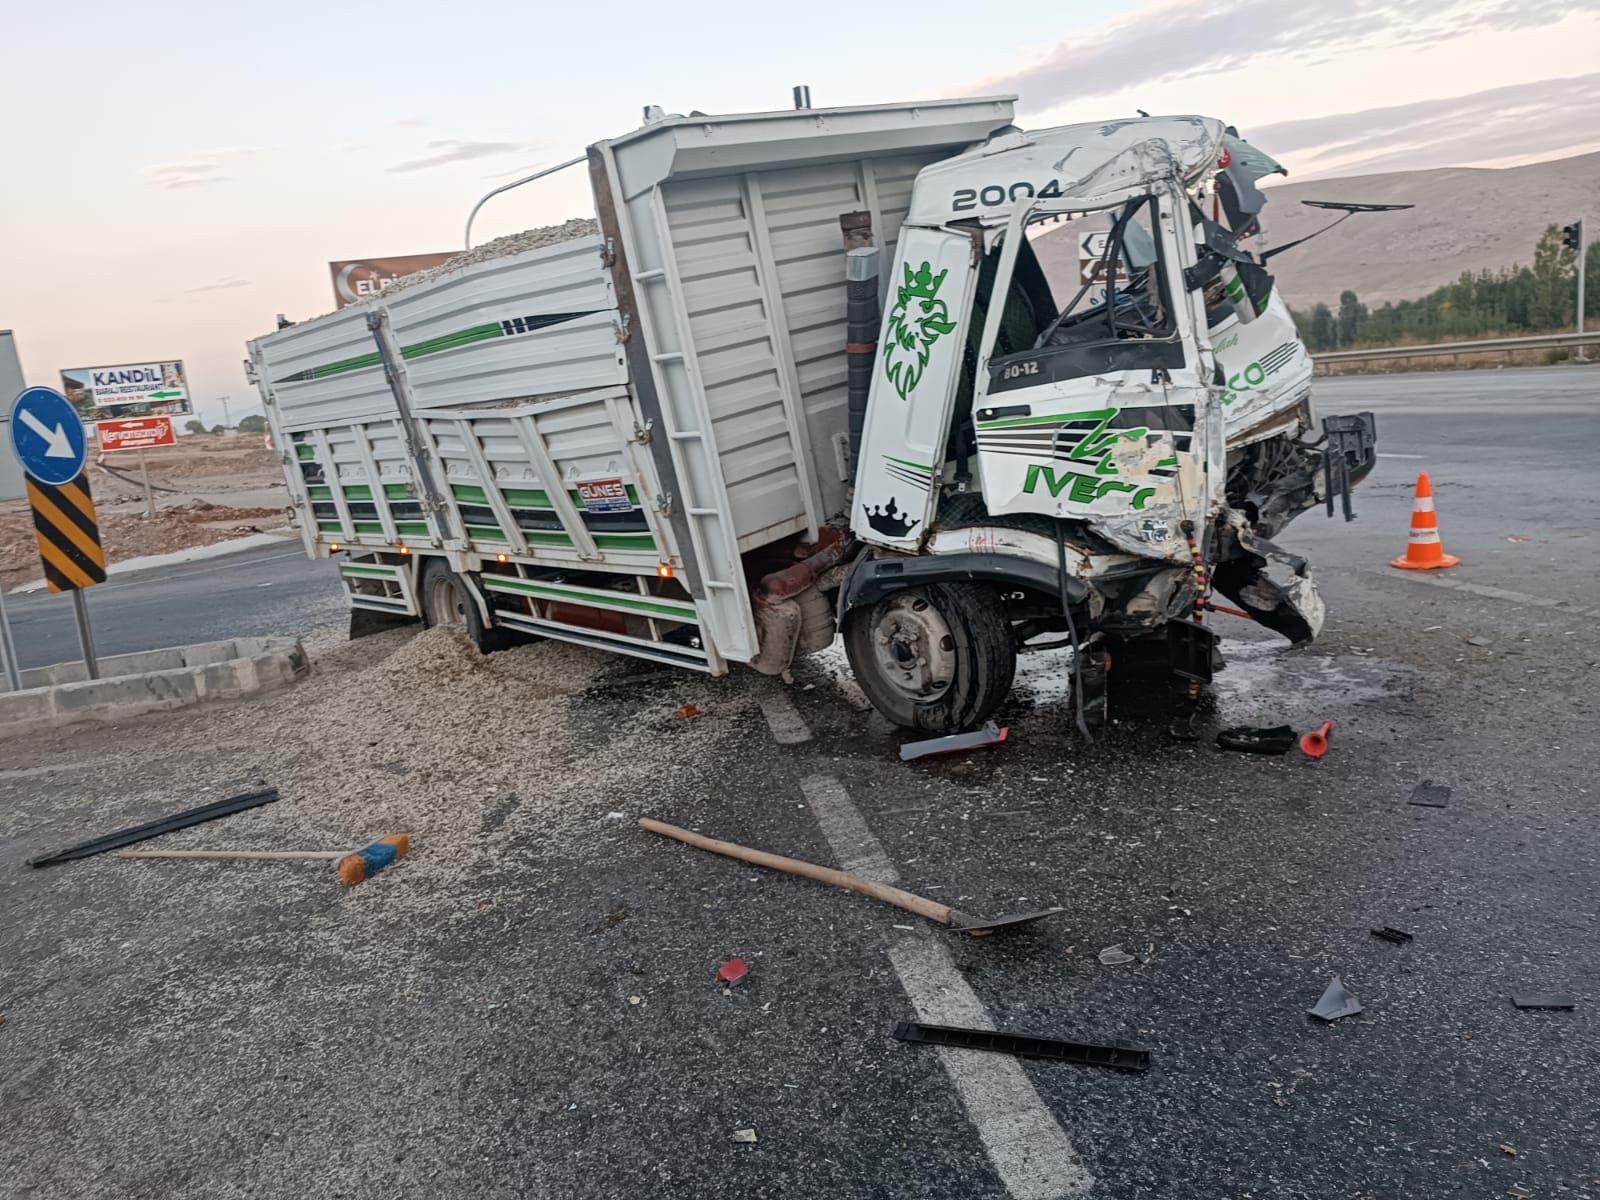
[(982, 584), (907, 587), (853, 608), (845, 653), (872, 707), (938, 734), (987, 720), (1016, 675), (1005, 603)]

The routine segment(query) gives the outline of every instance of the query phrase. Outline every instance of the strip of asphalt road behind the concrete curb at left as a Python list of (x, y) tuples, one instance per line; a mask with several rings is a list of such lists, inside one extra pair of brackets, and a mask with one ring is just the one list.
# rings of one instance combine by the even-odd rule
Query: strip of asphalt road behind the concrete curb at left
[[(112, 574), (85, 598), (99, 654), (304, 634), (347, 611), (334, 565), (307, 558), (298, 541)], [(70, 597), (24, 592), (6, 613), (24, 669), (78, 656)]]

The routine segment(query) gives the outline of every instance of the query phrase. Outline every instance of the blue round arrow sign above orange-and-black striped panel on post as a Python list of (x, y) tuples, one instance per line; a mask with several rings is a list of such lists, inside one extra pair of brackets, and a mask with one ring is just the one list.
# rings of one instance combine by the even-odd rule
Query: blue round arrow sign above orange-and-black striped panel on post
[(106, 552), (90, 496), (83, 421), (61, 392), (29, 387), (11, 405), (11, 445), (27, 475), (45, 582), (51, 592), (72, 592), (83, 667), (90, 678), (99, 678), (83, 589), (106, 582)]

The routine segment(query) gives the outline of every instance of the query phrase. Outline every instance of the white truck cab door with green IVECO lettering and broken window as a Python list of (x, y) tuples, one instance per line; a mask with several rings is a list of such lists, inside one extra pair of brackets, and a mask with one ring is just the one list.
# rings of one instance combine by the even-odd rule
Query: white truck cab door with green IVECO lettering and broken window
[[(1045, 234), (1096, 258), (1075, 278), (1050, 272), (1056, 312), (1032, 344), (1008, 341), (1003, 310), (989, 304), (971, 430), (992, 515), (1085, 520), (1134, 554), (1187, 555), (1181, 522), (1205, 520), (1208, 482), (1221, 480), (1221, 462), (1208, 470), (1206, 459), (1221, 446), (1208, 435), (1211, 360), (1197, 342), (1181, 270), (1189, 243), (1173, 211), (1166, 195), (1142, 195)], [(1026, 224), (1011, 226), (995, 294), (1035, 258)]]

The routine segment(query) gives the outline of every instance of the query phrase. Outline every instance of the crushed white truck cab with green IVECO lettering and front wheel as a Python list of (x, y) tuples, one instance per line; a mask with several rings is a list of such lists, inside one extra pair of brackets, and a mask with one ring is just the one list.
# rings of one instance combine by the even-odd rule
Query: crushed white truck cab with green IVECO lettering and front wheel
[[(1246, 155), (1270, 163), (1218, 120), (1138, 118), (1008, 130), (917, 176), (856, 459), (869, 549), (840, 598), (891, 718), (986, 718), (1042, 634), (1075, 648), (1080, 707), (1107, 662), (1210, 678), (1213, 587), (1315, 635), (1309, 571), (1264, 539), (1371, 469), (1371, 419), (1354, 448), (1318, 437), (1310, 358), (1240, 246), (1254, 213), (1206, 216)], [(1096, 256), (1050, 269), (1062, 235)]]

